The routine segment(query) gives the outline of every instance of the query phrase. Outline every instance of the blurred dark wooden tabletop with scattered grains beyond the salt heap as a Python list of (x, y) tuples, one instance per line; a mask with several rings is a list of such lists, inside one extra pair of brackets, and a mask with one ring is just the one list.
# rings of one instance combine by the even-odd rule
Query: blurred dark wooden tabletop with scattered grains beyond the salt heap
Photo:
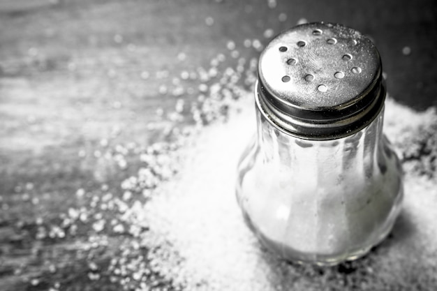
[(433, 0), (0, 0), (0, 290), (177, 290), (153, 271), (126, 279), (147, 250), (120, 246), (147, 230), (123, 214), (175, 172), (186, 128), (251, 89), (269, 39), (353, 27), (376, 43), (390, 96), (426, 110), (436, 15)]

